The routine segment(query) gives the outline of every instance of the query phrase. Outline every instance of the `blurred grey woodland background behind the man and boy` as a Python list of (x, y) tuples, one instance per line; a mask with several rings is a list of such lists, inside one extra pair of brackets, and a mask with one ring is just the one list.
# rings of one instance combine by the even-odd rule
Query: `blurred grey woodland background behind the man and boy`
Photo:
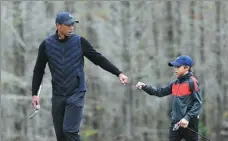
[(38, 47), (55, 32), (61, 10), (80, 21), (77, 34), (129, 77), (123, 86), (85, 59), (83, 141), (167, 141), (171, 96), (149, 96), (135, 84), (165, 86), (175, 79), (167, 63), (180, 54), (195, 60), (203, 97), (199, 132), (213, 141), (228, 140), (228, 2), (154, 0), (2, 1), (2, 141), (56, 140), (48, 67), (41, 112), (32, 120), (28, 116)]

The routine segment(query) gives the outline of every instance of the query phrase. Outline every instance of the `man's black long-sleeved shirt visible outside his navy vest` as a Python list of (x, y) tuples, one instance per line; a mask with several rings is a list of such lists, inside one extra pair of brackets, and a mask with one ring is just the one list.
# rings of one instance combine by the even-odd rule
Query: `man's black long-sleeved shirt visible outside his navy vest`
[[(66, 40), (62, 40), (64, 42)], [(97, 52), (91, 44), (83, 37), (81, 37), (81, 48), (83, 55), (88, 58), (91, 62), (99, 65), (104, 70), (118, 76), (121, 71), (115, 67), (107, 58)], [(32, 80), (32, 95), (37, 95), (39, 86), (43, 79), (44, 70), (48, 62), (48, 57), (45, 54), (45, 41), (43, 41), (39, 46), (38, 57), (34, 67), (34, 74)]]

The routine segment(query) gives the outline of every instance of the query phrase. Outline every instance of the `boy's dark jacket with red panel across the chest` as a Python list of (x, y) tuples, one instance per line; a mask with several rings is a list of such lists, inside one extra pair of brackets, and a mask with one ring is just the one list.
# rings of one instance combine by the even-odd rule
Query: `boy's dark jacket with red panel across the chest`
[(171, 118), (173, 123), (180, 121), (182, 118), (188, 121), (191, 118), (199, 118), (202, 101), (199, 94), (198, 81), (191, 72), (171, 82), (164, 88), (146, 85), (142, 89), (149, 95), (158, 97), (172, 94)]

